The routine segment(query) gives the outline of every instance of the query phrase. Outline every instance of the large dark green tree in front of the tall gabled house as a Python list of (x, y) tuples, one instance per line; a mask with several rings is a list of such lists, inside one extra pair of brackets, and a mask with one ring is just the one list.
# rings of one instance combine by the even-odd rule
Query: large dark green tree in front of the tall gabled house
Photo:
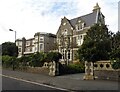
[(93, 25), (86, 33), (84, 42), (78, 50), (80, 61), (108, 60), (111, 51), (110, 37), (106, 25)]

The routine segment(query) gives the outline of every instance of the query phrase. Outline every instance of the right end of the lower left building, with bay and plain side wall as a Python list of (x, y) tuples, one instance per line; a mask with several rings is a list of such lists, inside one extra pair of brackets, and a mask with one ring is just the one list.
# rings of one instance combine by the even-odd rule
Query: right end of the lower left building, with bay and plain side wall
[(36, 33), (35, 52), (49, 52), (55, 49), (56, 35), (51, 33)]

